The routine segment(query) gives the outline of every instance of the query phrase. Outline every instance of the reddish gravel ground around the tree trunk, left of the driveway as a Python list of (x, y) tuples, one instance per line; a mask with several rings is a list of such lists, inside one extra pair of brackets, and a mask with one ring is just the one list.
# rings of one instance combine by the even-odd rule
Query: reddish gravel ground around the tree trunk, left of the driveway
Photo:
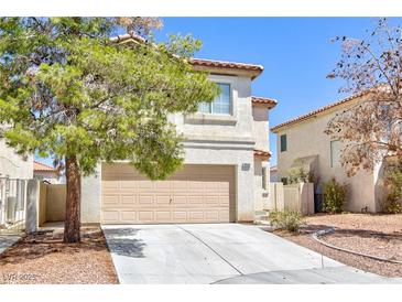
[(82, 229), (80, 244), (64, 244), (63, 230), (41, 231), (0, 256), (0, 283), (118, 283), (105, 237), (98, 227)]

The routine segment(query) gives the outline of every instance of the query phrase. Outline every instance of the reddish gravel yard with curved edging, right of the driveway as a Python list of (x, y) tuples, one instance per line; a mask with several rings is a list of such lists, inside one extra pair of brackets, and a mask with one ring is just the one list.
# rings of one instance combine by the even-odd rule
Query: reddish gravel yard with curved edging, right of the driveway
[(306, 217), (306, 226), (298, 235), (283, 230), (274, 233), (345, 265), (384, 277), (402, 277), (402, 265), (338, 251), (318, 244), (311, 237), (314, 231), (329, 227), (337, 228), (335, 234), (322, 237), (329, 244), (358, 252), (402, 260), (402, 215), (320, 214)]

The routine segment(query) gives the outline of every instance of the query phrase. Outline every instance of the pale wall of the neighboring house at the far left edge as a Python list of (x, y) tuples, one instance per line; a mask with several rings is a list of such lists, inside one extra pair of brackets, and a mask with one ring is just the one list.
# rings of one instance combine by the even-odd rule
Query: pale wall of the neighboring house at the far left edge
[(14, 149), (8, 147), (4, 140), (0, 140), (0, 177), (32, 179), (32, 155), (23, 158), (17, 154)]

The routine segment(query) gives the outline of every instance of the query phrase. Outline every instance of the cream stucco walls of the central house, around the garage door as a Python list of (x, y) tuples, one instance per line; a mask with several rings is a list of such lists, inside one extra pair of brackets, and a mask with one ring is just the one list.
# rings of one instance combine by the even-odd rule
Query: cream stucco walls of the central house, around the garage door
[[(232, 97), (230, 116), (176, 114), (171, 115), (169, 119), (185, 137), (185, 163), (236, 166), (236, 217), (239, 222), (253, 220), (254, 191), (256, 187), (259, 191), (261, 188), (261, 175), (254, 175), (253, 149), (258, 145), (261, 150), (269, 150), (268, 110), (252, 109), (250, 77), (211, 75), (210, 78), (230, 84)], [(98, 165), (97, 176), (83, 180), (83, 223), (100, 220), (100, 175), (101, 166)], [(257, 193), (257, 196), (261, 195), (261, 192)], [(259, 199), (259, 204), (262, 204), (262, 199)]]

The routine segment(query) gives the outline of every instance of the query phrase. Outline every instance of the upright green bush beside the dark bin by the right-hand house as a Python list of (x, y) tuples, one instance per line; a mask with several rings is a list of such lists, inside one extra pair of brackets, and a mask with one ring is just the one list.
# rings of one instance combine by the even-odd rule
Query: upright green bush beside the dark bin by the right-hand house
[(341, 213), (346, 202), (346, 186), (335, 179), (324, 183), (323, 209), (327, 213)]

